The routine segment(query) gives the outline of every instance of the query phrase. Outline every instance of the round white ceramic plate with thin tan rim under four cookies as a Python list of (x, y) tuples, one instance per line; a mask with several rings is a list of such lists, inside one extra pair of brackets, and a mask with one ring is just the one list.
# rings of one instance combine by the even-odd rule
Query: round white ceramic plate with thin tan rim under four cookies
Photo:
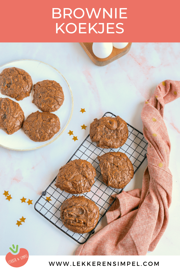
[[(71, 88), (67, 80), (57, 69), (41, 61), (26, 59), (10, 62), (0, 67), (0, 73), (3, 69), (11, 67), (21, 68), (28, 72), (32, 78), (33, 84), (42, 80), (55, 80), (62, 86), (64, 92), (64, 102), (59, 108), (59, 110), (53, 112), (59, 117), (60, 130), (52, 137), (52, 139), (40, 143), (30, 140), (29, 137), (25, 135), (22, 129), (16, 131), (12, 135), (8, 135), (2, 129), (0, 129), (0, 146), (16, 151), (34, 150), (46, 146), (56, 140), (64, 132), (70, 122), (73, 113), (73, 95)], [(34, 91), (32, 89), (30, 96), (25, 97), (23, 100), (20, 101), (2, 95), (1, 93), (0, 97), (8, 97), (9, 99), (18, 102), (24, 112), (26, 119), (29, 114), (39, 110), (36, 105), (32, 103), (33, 93)], [(41, 112), (41, 110), (39, 111)]]

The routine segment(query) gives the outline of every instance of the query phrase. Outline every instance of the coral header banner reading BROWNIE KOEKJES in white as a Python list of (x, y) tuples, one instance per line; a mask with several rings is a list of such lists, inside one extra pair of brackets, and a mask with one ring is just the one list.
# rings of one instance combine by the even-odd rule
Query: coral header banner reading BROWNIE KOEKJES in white
[(1, 2), (0, 42), (179, 42), (180, 2)]

